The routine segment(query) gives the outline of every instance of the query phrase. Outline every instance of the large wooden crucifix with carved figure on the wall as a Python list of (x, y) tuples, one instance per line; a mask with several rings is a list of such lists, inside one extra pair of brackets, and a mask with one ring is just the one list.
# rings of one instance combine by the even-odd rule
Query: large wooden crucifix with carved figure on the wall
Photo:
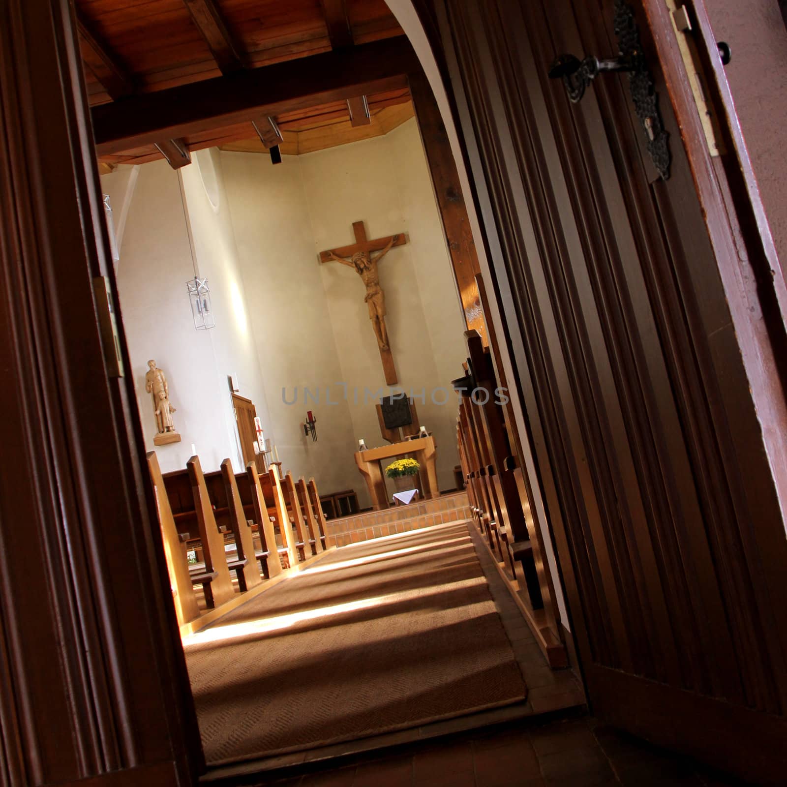
[[(386, 328), (386, 297), (380, 286), (377, 264), (393, 246), (402, 246), (407, 242), (407, 239), (405, 234), (400, 232), (399, 235), (388, 235), (386, 238), (375, 238), (373, 241), (367, 240), (363, 221), (353, 222), (353, 232), (355, 233), (355, 243), (351, 246), (340, 246), (338, 249), (321, 251), (320, 262), (334, 260), (354, 268), (366, 286), (364, 301), (369, 308), (369, 319), (371, 327), (375, 331), (380, 360), (382, 360), (382, 370), (386, 375), (386, 383), (393, 386), (397, 382), (397, 374), (396, 368), (393, 366), (393, 356)], [(372, 257), (372, 252), (375, 251), (379, 254)], [(349, 259), (346, 259), (347, 257)]]

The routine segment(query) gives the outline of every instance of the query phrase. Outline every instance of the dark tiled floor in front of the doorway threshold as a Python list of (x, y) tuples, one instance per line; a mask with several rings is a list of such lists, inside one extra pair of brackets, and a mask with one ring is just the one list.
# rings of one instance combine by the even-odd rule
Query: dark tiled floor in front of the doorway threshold
[(731, 787), (688, 760), (596, 726), (592, 719), (523, 719), (382, 759), (279, 781), (277, 787)]

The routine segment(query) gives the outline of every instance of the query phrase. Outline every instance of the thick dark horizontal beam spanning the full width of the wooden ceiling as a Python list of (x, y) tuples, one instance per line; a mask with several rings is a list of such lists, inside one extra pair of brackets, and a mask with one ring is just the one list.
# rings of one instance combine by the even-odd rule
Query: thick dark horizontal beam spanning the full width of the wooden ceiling
[(404, 36), (216, 76), (94, 106), (99, 155), (260, 117), (407, 87), (419, 68)]

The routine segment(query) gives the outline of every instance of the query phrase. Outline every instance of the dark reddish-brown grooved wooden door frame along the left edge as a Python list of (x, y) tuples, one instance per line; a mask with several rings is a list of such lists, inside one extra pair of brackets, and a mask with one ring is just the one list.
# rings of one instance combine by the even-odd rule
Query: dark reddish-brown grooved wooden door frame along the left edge
[(97, 277), (116, 289), (75, 31), (68, 0), (0, 4), (0, 781), (174, 787), (201, 745), (133, 379), (98, 327)]

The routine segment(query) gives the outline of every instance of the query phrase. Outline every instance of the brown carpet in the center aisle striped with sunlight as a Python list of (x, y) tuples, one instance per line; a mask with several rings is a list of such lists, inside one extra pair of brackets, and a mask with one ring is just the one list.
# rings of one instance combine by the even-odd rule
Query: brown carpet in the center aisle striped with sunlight
[(338, 549), (183, 644), (211, 765), (527, 696), (466, 523)]

